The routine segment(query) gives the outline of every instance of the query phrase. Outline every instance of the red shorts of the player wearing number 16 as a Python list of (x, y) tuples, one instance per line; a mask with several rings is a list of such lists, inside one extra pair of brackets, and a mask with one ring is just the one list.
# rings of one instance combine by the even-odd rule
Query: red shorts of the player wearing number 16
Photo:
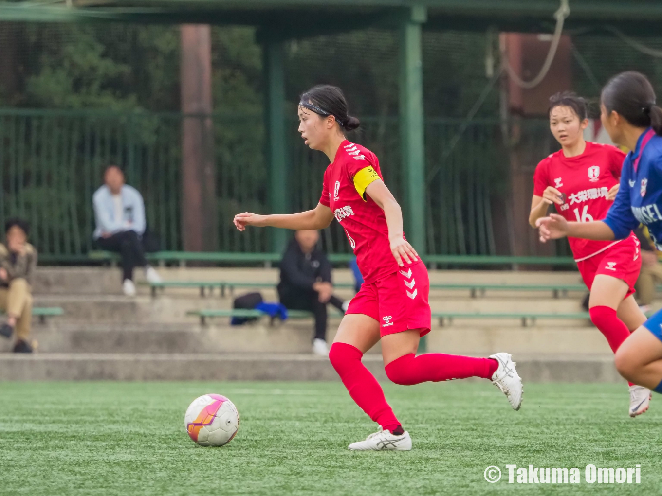
[(634, 284), (637, 282), (639, 270), (641, 270), (639, 239), (635, 235), (630, 235), (597, 255), (577, 262), (577, 268), (589, 290), (597, 274), (624, 280), (629, 287), (626, 295), (628, 298), (634, 294)]

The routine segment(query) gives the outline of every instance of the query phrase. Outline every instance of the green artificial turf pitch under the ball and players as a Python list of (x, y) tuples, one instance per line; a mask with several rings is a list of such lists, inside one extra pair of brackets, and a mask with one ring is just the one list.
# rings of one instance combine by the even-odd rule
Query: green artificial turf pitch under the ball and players
[[(183, 427), (208, 392), (237, 405), (223, 448)], [(487, 382), (385, 385), (410, 452), (350, 452), (375, 431), (338, 383), (0, 383), (0, 495), (659, 495), (662, 397), (637, 419), (623, 384), (527, 384), (512, 411)], [(504, 466), (577, 467), (580, 484), (508, 484)], [(585, 482), (587, 464), (640, 484)], [(504, 477), (487, 483), (496, 465)]]

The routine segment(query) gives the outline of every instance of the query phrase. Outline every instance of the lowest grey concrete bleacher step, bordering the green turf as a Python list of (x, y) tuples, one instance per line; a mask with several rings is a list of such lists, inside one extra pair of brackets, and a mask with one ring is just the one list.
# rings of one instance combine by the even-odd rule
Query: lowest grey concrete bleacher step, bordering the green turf
[[(527, 382), (622, 382), (611, 355), (514, 356)], [(363, 363), (386, 381), (379, 356)], [(338, 380), (312, 354), (0, 354), (0, 380)], [(440, 384), (439, 387), (444, 387)], [(486, 391), (500, 394), (485, 381)], [(526, 399), (525, 399), (526, 401)]]

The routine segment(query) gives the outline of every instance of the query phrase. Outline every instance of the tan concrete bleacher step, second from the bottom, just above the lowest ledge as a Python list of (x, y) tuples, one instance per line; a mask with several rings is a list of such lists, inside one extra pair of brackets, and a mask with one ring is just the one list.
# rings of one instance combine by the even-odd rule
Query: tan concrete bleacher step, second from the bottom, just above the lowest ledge
[[(332, 341), (337, 327), (329, 325)], [(230, 326), (226, 319), (211, 325), (181, 324), (87, 324), (58, 323), (34, 329), (39, 352), (101, 353), (224, 353), (310, 352), (312, 323), (297, 321), (268, 325), (266, 321)], [(436, 327), (426, 337), (428, 351), (451, 354), (516, 353), (608, 354), (606, 339), (595, 327), (538, 324), (521, 327), (518, 322), (457, 320), (449, 327)], [(0, 341), (0, 352), (11, 342)], [(381, 352), (379, 343), (369, 353)]]

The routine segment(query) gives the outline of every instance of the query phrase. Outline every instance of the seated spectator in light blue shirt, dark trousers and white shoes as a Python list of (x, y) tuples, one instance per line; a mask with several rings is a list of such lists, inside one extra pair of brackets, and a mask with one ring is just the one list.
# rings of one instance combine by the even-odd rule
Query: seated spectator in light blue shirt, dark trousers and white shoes
[(145, 232), (145, 205), (142, 195), (124, 184), (124, 173), (117, 165), (108, 167), (105, 185), (93, 196), (97, 228), (94, 239), (99, 249), (115, 251), (122, 257), (122, 290), (126, 296), (136, 294), (134, 267), (143, 267), (148, 282), (161, 278), (145, 259), (142, 235)]

